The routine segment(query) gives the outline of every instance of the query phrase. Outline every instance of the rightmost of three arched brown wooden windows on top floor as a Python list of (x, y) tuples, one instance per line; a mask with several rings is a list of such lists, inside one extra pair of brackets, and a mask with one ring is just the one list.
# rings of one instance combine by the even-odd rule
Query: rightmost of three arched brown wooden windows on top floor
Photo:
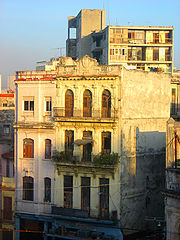
[(102, 94), (102, 118), (111, 117), (111, 93), (108, 90), (104, 90)]

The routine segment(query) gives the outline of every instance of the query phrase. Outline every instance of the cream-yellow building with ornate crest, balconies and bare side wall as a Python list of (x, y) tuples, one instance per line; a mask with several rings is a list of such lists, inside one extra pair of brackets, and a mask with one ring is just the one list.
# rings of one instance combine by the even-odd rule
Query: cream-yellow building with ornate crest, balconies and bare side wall
[[(56, 148), (61, 152), (69, 146), (74, 162), (57, 163), (61, 194), (55, 192), (55, 204), (90, 209), (92, 217), (117, 214), (122, 227), (138, 229), (145, 227), (147, 216), (162, 217), (158, 189), (163, 186), (169, 104), (170, 75), (100, 66), (87, 56), (76, 62), (62, 59), (54, 109)], [(96, 166), (94, 158), (106, 150), (117, 153), (120, 163)], [(65, 181), (73, 192), (63, 194)], [(78, 187), (83, 181), (91, 186), (88, 206)], [(101, 195), (97, 186), (102, 182), (109, 194)]]

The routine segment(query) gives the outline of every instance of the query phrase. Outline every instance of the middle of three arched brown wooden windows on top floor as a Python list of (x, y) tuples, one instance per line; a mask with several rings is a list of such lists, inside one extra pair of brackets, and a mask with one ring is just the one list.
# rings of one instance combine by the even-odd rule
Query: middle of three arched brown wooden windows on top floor
[(85, 90), (83, 94), (83, 117), (92, 116), (92, 93), (89, 90)]

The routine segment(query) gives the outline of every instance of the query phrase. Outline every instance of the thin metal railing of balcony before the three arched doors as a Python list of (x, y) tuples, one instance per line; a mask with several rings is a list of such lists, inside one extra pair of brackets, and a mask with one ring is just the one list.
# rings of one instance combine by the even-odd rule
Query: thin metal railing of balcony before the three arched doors
[(92, 119), (92, 120), (116, 120), (118, 118), (118, 111), (111, 109), (111, 111), (83, 111), (83, 110), (72, 110), (68, 111), (65, 108), (54, 107), (53, 117), (57, 118), (71, 118), (71, 119)]

